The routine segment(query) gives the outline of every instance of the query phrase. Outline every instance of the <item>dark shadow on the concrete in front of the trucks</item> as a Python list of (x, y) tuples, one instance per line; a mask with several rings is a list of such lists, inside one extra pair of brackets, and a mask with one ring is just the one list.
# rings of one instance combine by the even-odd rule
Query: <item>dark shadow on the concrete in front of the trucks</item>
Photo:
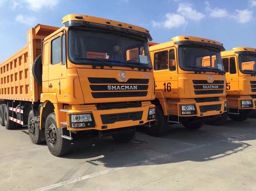
[[(112, 137), (75, 137), (72, 152), (63, 157), (83, 159), (94, 166), (115, 168), (152, 159), (167, 154), (165, 160), (152, 160), (136, 165), (155, 165), (182, 161), (204, 162), (222, 158), (243, 151), (251, 145), (245, 141), (256, 138), (255, 119), (246, 122), (227, 121), (225, 126), (205, 126), (196, 131), (188, 131), (181, 125), (170, 127), (162, 137), (152, 137), (137, 132), (135, 139), (126, 144), (115, 143)], [(234, 131), (235, 130), (235, 131)], [(251, 133), (251, 134), (250, 134)], [(239, 136), (238, 136), (239, 135)], [(244, 136), (245, 135), (245, 136)], [(228, 138), (232, 138), (228, 139)], [(234, 141), (234, 142), (233, 142)]]

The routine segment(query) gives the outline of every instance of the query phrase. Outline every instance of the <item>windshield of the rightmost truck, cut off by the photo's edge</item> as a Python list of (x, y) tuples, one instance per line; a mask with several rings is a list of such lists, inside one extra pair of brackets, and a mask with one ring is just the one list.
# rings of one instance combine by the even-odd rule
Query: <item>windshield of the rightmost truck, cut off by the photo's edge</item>
[(239, 68), (244, 74), (256, 73), (256, 54), (239, 55)]

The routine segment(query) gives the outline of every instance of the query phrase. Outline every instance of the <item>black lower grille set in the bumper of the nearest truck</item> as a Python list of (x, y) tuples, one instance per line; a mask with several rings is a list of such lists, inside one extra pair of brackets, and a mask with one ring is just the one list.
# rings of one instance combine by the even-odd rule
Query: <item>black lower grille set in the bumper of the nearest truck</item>
[(119, 114), (101, 115), (102, 124), (111, 124), (117, 121), (136, 121), (142, 119), (143, 112), (129, 112)]

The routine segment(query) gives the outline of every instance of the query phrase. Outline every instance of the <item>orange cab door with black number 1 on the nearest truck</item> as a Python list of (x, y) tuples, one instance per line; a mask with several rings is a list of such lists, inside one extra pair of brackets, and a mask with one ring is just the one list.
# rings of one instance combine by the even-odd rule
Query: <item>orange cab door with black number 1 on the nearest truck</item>
[(49, 64), (49, 92), (56, 93), (58, 102), (67, 99), (66, 34), (64, 31), (51, 38)]

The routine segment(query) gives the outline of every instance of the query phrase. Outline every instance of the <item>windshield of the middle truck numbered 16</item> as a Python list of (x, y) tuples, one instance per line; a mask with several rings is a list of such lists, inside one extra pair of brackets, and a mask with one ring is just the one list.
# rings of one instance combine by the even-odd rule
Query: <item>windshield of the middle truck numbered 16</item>
[(180, 45), (179, 64), (181, 69), (185, 71), (204, 73), (223, 73), (224, 71), (220, 49), (206, 46)]

